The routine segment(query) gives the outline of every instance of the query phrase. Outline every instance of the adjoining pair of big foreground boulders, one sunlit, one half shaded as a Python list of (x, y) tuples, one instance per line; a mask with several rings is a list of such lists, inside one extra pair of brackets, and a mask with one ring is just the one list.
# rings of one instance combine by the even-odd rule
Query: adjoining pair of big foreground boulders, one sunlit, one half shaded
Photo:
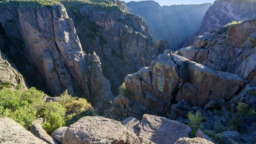
[(122, 124), (100, 116), (86, 116), (69, 127), (55, 130), (52, 137), (62, 144), (173, 144), (191, 132), (190, 127), (181, 122), (147, 114), (142, 121), (130, 117)]

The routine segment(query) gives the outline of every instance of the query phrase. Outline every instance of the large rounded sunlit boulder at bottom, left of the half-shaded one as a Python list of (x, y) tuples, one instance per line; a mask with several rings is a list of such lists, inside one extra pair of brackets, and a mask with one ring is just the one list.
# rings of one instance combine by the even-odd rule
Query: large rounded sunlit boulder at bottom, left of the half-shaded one
[(67, 128), (53, 132), (62, 144), (139, 144), (139, 138), (119, 121), (100, 116), (85, 116)]

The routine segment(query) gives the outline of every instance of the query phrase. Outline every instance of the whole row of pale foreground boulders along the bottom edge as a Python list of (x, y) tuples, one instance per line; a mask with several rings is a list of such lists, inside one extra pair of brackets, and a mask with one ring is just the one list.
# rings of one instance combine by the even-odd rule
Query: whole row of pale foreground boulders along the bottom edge
[(173, 144), (190, 141), (191, 132), (181, 122), (147, 114), (142, 121), (129, 117), (122, 123), (101, 116), (85, 116), (69, 127), (55, 130), (51, 136), (41, 128), (40, 120), (33, 122), (31, 133), (7, 117), (0, 118), (0, 125), (0, 142), (4, 144)]

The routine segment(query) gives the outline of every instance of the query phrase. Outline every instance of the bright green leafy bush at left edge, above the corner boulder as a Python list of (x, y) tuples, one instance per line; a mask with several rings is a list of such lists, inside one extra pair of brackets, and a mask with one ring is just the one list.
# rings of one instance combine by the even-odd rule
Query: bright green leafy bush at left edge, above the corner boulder
[(44, 102), (41, 91), (2, 89), (0, 91), (0, 116), (7, 116), (29, 129), (32, 122), (39, 117), (39, 110)]

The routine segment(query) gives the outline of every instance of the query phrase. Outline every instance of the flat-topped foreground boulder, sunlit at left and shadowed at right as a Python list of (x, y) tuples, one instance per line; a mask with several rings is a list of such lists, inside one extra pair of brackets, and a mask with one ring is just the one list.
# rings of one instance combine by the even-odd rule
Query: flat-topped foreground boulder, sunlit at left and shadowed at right
[(139, 123), (139, 134), (156, 144), (173, 144), (179, 138), (189, 137), (191, 129), (188, 125), (164, 117), (144, 114)]

